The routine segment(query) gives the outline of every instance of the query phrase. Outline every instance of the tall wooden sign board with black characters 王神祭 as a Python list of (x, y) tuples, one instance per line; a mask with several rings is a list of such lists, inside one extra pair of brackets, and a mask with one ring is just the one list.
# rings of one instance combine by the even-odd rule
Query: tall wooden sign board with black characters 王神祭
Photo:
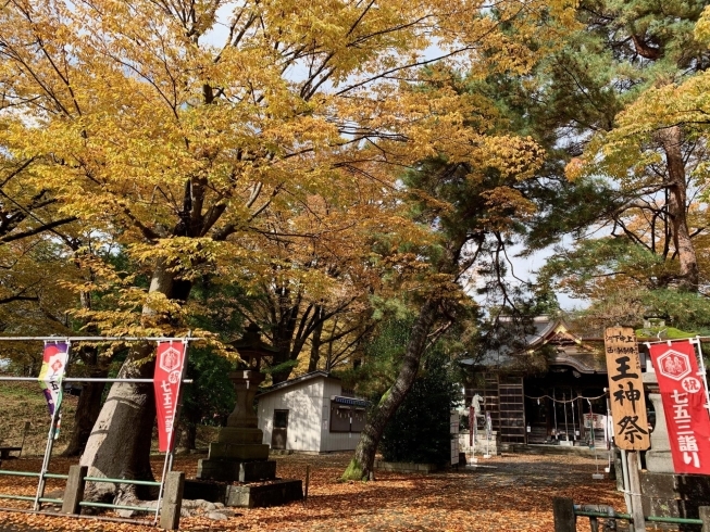
[(605, 330), (614, 443), (625, 451), (650, 447), (636, 335), (631, 327)]

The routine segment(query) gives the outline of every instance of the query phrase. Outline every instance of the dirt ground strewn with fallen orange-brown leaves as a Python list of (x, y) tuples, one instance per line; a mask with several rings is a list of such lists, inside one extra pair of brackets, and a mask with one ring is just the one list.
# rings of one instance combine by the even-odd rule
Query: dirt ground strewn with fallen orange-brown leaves
[[(190, 455), (176, 458), (175, 470), (188, 478), (197, 471)], [(184, 518), (180, 530), (195, 531), (476, 531), (550, 532), (552, 497), (572, 497), (580, 504), (608, 504), (625, 511), (622, 495), (611, 480), (593, 480), (594, 459), (565, 456), (503, 455), (481, 460), (478, 467), (434, 474), (381, 472), (374, 482), (341, 483), (338, 478), (350, 455), (275, 456), (281, 478), (306, 478), (311, 466), (306, 503), (277, 508), (236, 508), (227, 520)], [(51, 472), (66, 472), (74, 463), (53, 458)], [(603, 470), (606, 461), (598, 467)], [(5, 460), (2, 469), (38, 471), (38, 458)], [(162, 458), (154, 459), (160, 472)], [(33, 479), (0, 476), (0, 493), (34, 495)], [(48, 490), (63, 481), (50, 481)], [(26, 502), (0, 499), (0, 506), (27, 508)], [(0, 531), (45, 530), (147, 531), (151, 527), (0, 511)], [(588, 531), (580, 518), (578, 531)]]

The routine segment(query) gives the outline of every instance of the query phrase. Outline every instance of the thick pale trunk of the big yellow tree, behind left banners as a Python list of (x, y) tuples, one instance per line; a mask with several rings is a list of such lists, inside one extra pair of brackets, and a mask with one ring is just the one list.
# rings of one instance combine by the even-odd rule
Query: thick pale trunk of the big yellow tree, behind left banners
[[(150, 292), (173, 295), (173, 276), (159, 261), (153, 271)], [(183, 295), (183, 294), (180, 294)], [(150, 317), (153, 311), (144, 308)], [(119, 371), (119, 378), (152, 379), (154, 344), (132, 350)], [(155, 403), (152, 383), (115, 382), (94, 426), (80, 464), (88, 466), (89, 477), (153, 480), (150, 468), (150, 444), (155, 425)], [(87, 483), (87, 499), (129, 503), (135, 498), (152, 498), (157, 491), (128, 484)]]

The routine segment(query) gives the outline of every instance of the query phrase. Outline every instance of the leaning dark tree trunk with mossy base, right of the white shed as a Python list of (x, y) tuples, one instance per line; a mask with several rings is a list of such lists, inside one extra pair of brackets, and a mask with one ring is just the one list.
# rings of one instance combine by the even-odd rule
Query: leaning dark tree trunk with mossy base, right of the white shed
[(439, 301), (431, 297), (422, 305), (419, 317), (412, 329), (407, 352), (402, 359), (399, 373), (391, 388), (385, 393), (377, 407), (372, 413), (368, 425), (360, 435), (360, 442), (354, 451), (350, 465), (342, 473), (342, 480), (361, 480), (370, 478), (375, 463), (375, 453), (382, 439), (385, 426), (397, 411), (409, 392), (416, 373), (420, 360), (426, 347), (429, 331), (437, 317)]

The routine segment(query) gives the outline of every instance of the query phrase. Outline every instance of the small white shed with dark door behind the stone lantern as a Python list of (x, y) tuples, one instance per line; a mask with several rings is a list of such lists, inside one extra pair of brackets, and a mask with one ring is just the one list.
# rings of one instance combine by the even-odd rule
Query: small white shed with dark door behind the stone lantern
[(313, 371), (257, 396), (262, 443), (301, 453), (352, 451), (365, 426), (366, 402), (346, 396), (340, 379)]

